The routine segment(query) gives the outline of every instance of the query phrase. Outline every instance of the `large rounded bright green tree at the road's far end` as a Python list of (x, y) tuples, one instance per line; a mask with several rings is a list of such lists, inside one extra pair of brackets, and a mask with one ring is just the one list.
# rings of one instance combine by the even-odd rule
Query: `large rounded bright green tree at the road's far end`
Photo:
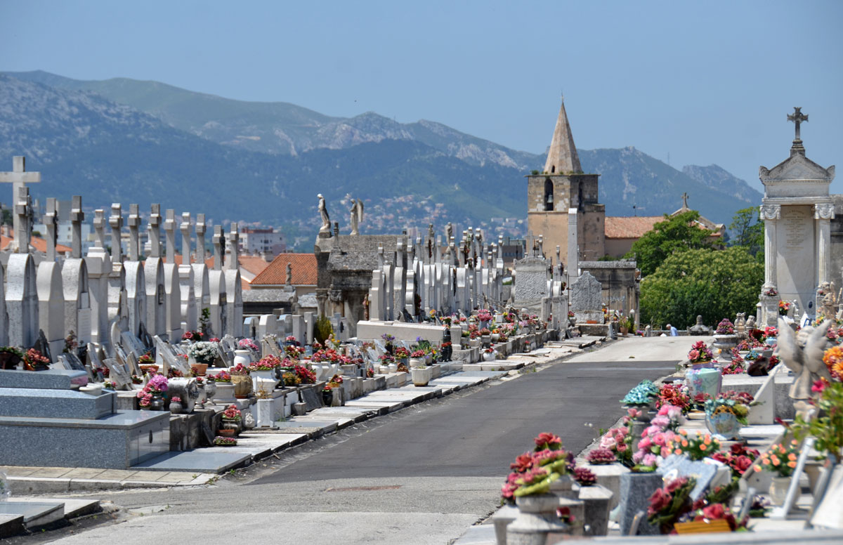
[(754, 313), (764, 264), (745, 248), (694, 249), (673, 254), (641, 282), (642, 323), (693, 325)]

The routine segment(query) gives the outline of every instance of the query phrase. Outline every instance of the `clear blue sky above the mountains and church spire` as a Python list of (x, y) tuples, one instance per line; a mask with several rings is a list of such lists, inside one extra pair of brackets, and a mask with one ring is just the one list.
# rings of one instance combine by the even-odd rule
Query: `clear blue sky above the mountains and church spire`
[(0, 70), (434, 120), (535, 153), (564, 93), (579, 148), (716, 163), (761, 189), (758, 167), (787, 158), (793, 106), (808, 158), (843, 152), (840, 24), (837, 0), (0, 0)]

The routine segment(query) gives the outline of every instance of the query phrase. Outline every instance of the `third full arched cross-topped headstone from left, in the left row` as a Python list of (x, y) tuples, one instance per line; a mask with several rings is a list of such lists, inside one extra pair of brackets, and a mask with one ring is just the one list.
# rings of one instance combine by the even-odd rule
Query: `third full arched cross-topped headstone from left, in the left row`
[(82, 257), (82, 197), (73, 195), (70, 209), (70, 257), (62, 264), (64, 290), (64, 327), (76, 334), (79, 346), (91, 339), (91, 303), (88, 290), (88, 265)]

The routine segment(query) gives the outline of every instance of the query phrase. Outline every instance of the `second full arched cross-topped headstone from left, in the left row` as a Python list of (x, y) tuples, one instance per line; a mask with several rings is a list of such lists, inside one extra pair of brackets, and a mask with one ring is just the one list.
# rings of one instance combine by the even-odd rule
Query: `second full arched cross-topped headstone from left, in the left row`
[(38, 292), (38, 322), (46, 334), (47, 342), (53, 354), (58, 354), (64, 347), (64, 291), (62, 290), (62, 265), (56, 262), (56, 199), (47, 199), (44, 215), (47, 229), (46, 259), (38, 265), (36, 286)]

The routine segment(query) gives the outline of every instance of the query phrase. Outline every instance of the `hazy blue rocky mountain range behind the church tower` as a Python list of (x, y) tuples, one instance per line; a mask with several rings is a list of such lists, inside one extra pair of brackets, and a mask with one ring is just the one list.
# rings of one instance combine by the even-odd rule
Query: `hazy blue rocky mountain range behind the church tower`
[[(728, 224), (734, 211), (760, 202), (758, 191), (717, 165), (679, 171), (634, 147), (578, 152), (585, 172), (601, 174), (607, 215), (670, 213), (687, 193), (692, 208)], [(27, 156), (27, 168), (42, 173), (35, 196), (147, 210), (160, 202), (217, 223), (282, 227), (307, 241), (319, 225), (316, 193), (343, 229), (351, 194), (366, 205), (362, 232), (454, 222), (521, 235), (524, 174), (545, 163), (544, 154), (433, 121), (331, 117), (158, 82), (40, 71), (0, 73), (0, 158), (11, 155)]]

